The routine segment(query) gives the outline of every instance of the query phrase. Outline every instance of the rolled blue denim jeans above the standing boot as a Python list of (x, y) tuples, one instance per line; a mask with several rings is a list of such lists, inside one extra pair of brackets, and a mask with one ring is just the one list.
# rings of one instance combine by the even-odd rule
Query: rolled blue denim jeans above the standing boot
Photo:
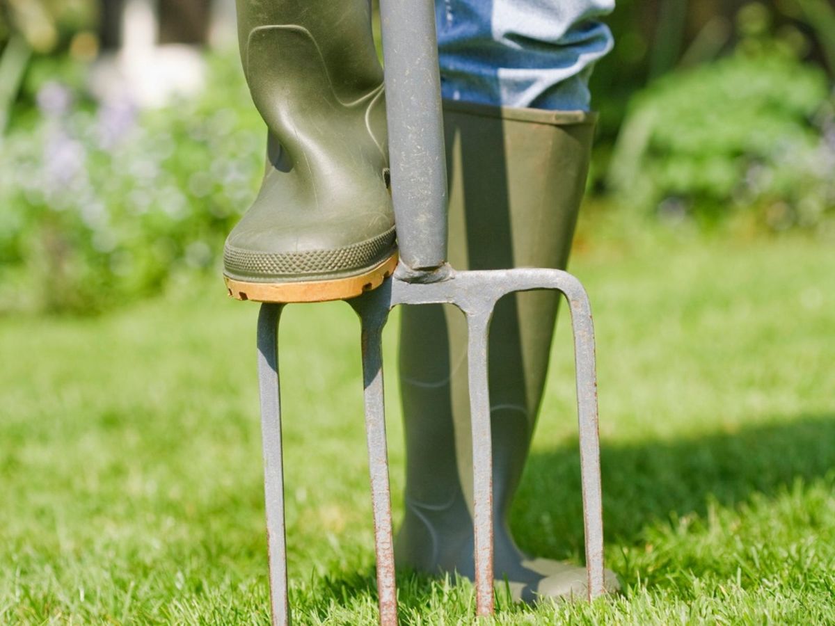
[(444, 98), (589, 110), (615, 0), (435, 0)]

